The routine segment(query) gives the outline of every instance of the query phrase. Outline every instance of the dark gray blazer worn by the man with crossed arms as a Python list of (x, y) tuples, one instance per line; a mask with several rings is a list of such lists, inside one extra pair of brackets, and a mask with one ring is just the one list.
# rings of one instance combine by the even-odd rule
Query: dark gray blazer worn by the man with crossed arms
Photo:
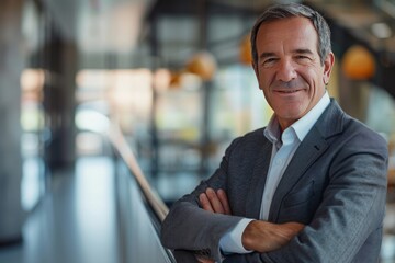
[[(272, 145), (263, 128), (235, 139), (219, 168), (174, 203), (161, 241), (178, 262), (373, 263), (379, 261), (387, 186), (387, 144), (332, 100), (297, 148), (273, 196), (269, 221), (306, 227), (285, 247), (222, 259), (218, 242), (241, 218), (259, 218)], [(224, 188), (233, 216), (200, 208), (206, 187)], [(180, 251), (180, 252), (177, 252)]]

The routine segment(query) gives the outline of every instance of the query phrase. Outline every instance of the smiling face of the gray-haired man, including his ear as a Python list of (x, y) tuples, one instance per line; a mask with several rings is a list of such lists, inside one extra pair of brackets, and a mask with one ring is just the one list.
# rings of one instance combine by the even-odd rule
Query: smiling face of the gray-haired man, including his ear
[(263, 23), (257, 35), (260, 89), (284, 130), (314, 107), (325, 93), (335, 58), (320, 62), (318, 35), (306, 18)]

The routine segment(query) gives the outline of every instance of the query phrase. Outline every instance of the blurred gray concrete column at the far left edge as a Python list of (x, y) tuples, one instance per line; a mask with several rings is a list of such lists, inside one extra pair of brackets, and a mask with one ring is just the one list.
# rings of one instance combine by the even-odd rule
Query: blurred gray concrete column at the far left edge
[(22, 0), (0, 1), (0, 247), (21, 240)]

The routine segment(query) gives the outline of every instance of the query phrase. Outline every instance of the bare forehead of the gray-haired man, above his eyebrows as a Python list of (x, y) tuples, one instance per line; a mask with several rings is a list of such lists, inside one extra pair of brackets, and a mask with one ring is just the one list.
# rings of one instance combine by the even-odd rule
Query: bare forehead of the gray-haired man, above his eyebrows
[[(262, 23), (257, 34), (257, 50), (303, 48), (317, 53), (318, 34), (313, 23), (301, 16)], [(273, 50), (268, 50), (273, 49)]]

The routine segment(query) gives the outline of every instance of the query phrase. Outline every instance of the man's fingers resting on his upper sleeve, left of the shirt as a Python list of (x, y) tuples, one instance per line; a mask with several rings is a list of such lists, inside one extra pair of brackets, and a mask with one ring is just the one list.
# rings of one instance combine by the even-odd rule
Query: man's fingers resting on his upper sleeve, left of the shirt
[(224, 190), (206, 188), (206, 191), (199, 195), (199, 201), (204, 210), (232, 215), (230, 206)]

